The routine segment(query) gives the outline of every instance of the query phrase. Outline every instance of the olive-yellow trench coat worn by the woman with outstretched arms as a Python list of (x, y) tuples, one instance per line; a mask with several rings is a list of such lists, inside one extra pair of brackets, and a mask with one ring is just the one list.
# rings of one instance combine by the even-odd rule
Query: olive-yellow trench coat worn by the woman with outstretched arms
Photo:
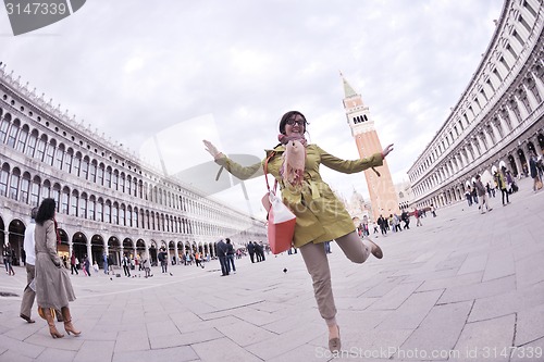
[[(321, 179), (319, 166), (323, 164), (332, 170), (351, 174), (381, 166), (383, 164), (381, 153), (375, 153), (363, 160), (346, 161), (325, 152), (317, 145), (309, 145), (306, 148), (302, 190), (297, 191), (286, 187), (280, 176), (285, 146), (277, 146), (273, 151), (268, 150), (267, 157), (272, 152), (275, 152), (275, 155), (269, 161), (268, 173), (277, 179), (284, 203), (297, 216), (294, 237), (295, 247), (299, 248), (308, 242), (330, 241), (355, 230), (351, 216), (344, 204), (336, 198), (329, 185)], [(247, 179), (263, 174), (265, 160), (267, 158), (247, 167), (226, 157), (222, 157), (215, 162), (224, 166), (234, 176)], [(272, 183), (270, 186), (272, 187)]]

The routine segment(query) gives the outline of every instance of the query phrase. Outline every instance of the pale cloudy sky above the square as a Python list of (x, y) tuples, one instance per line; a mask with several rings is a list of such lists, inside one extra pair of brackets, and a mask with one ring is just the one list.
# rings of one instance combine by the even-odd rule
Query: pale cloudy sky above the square
[[(499, 0), (87, 1), (14, 37), (0, 11), (0, 61), (86, 127), (175, 174), (225, 153), (260, 159), (283, 113), (299, 110), (310, 140), (358, 152), (339, 72), (370, 107), (395, 183), (444, 123), (477, 70)], [(157, 139), (159, 147), (153, 141)], [(154, 146), (153, 146), (154, 145)], [(154, 150), (154, 151), (153, 151)], [(214, 176), (214, 175), (212, 175)], [(364, 177), (323, 167), (346, 199)], [(197, 185), (194, 185), (197, 186)], [(260, 215), (262, 178), (246, 183)], [(217, 194), (248, 211), (239, 186)], [(236, 201), (234, 201), (236, 200)]]

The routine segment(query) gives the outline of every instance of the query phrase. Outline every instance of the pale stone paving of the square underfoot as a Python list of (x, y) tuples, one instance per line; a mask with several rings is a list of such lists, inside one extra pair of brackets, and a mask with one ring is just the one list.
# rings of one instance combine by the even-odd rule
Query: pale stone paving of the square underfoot
[(74, 275), (83, 334), (55, 340), (36, 305), (35, 324), (18, 317), (16, 267), (0, 274), (0, 291), (17, 295), (0, 297), (0, 361), (544, 361), (544, 191), (519, 184), (507, 207), (492, 198), (481, 215), (462, 202), (374, 238), (381, 261), (353, 264), (333, 244), (339, 355), (297, 253), (243, 259), (227, 277), (218, 261), (148, 279)]

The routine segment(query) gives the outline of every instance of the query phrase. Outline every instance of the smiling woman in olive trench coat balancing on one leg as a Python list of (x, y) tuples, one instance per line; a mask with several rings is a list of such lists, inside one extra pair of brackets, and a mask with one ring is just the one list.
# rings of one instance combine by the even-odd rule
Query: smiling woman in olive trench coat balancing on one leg
[(336, 307), (332, 292), (331, 272), (323, 242), (336, 240), (346, 257), (355, 263), (364, 262), (370, 253), (379, 259), (383, 254), (374, 242), (370, 240), (366, 240), (368, 245), (361, 242), (351, 216), (321, 178), (319, 166), (324, 164), (348, 174), (381, 166), (383, 159), (393, 150), (393, 145), (368, 159), (346, 161), (325, 152), (317, 145), (306, 145), (304, 134), (307, 130), (307, 124), (305, 116), (298, 111), (285, 113), (280, 122), (280, 138), (302, 139), (306, 146), (301, 188), (292, 187), (283, 180), (280, 170), (285, 146), (282, 143), (273, 150), (267, 150), (267, 157), (261, 162), (251, 166), (242, 166), (219, 152), (210, 141), (203, 142), (215, 162), (240, 179), (262, 175), (263, 165), (269, 160), (268, 172), (277, 180), (284, 203), (297, 216), (293, 244), (300, 249), (308, 273), (312, 277), (318, 308), (329, 327), (329, 349), (331, 352), (337, 352), (341, 349), (339, 327), (335, 319)]

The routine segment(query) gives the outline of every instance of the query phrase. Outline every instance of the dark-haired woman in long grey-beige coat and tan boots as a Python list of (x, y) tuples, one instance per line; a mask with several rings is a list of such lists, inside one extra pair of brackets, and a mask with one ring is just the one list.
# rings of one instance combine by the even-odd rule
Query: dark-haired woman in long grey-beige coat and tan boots
[(55, 202), (53, 199), (44, 199), (36, 215), (36, 300), (41, 309), (49, 333), (53, 338), (64, 335), (57, 330), (51, 309), (60, 310), (64, 319), (64, 330), (74, 336), (81, 332), (72, 325), (69, 302), (75, 300), (70, 276), (57, 253), (57, 223), (54, 221)]

